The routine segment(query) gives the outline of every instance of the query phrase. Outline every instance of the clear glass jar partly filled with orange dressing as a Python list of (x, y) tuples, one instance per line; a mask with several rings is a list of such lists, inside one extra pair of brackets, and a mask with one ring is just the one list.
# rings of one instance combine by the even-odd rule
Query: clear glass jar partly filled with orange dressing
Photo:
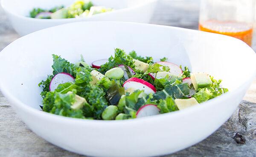
[(201, 0), (199, 30), (224, 34), (252, 45), (255, 0)]

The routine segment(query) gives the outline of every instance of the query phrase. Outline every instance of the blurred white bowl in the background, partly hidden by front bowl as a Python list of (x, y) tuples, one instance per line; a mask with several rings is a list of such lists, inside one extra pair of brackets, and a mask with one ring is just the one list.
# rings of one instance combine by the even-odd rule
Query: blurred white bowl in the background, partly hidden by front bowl
[(70, 6), (76, 0), (1, 0), (1, 6), (13, 28), (20, 36), (43, 28), (79, 21), (127, 21), (148, 23), (157, 0), (91, 0), (95, 6), (114, 8), (114, 11), (91, 17), (70, 19), (35, 19), (29, 17), (33, 8), (50, 9), (55, 6)]

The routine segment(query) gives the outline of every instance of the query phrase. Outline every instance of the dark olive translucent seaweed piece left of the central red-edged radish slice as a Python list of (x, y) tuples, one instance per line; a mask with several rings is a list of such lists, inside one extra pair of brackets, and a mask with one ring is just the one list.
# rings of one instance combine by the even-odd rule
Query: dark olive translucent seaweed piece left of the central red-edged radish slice
[(119, 84), (112, 84), (111, 87), (106, 92), (106, 98), (111, 105), (117, 105), (121, 96), (125, 94), (125, 88), (120, 87)]

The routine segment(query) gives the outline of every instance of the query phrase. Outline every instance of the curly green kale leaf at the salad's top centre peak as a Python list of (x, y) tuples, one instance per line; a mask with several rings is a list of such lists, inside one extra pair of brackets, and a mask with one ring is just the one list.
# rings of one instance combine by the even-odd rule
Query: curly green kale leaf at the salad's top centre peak
[(113, 67), (117, 67), (120, 64), (127, 65), (132, 69), (135, 68), (133, 58), (130, 55), (126, 55), (124, 50), (116, 48), (115, 57), (109, 57), (108, 62), (101, 65), (101, 67), (99, 68), (99, 72), (105, 74), (108, 70)]

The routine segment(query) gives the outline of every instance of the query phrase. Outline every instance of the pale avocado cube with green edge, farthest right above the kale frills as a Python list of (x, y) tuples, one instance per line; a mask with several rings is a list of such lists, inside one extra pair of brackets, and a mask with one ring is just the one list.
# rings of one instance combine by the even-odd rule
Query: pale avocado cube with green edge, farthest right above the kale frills
[(212, 84), (212, 80), (207, 73), (191, 73), (190, 78), (195, 90), (202, 87), (209, 87)]

